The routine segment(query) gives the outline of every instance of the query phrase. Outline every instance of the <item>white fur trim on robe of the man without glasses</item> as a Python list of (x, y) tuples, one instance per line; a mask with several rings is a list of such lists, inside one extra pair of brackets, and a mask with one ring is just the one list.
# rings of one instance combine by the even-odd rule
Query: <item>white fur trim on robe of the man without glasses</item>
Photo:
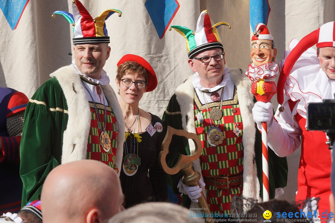
[[(90, 129), (90, 110), (81, 84), (80, 77), (75, 73), (72, 65), (62, 67), (52, 73), (56, 77), (66, 98), (69, 118), (66, 130), (63, 133), (63, 151), (61, 163), (67, 163), (86, 158), (87, 138)], [(111, 106), (116, 120), (119, 122), (117, 138), (117, 157), (115, 163), (121, 168), (123, 155), (123, 141), (125, 138), (124, 119), (117, 97), (112, 87), (104, 85), (103, 91)], [(80, 115), (78, 113), (80, 112)]]

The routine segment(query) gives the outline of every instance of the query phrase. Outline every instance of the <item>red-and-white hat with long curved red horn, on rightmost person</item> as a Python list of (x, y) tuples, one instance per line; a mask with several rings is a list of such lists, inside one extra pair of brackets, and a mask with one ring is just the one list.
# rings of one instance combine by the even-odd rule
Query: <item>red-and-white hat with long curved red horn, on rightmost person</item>
[(283, 103), (284, 94), (283, 89), (287, 77), (291, 73), (291, 70), (295, 62), (308, 48), (316, 44), (317, 48), (323, 47), (335, 47), (335, 22), (327, 22), (323, 24), (320, 28), (314, 30), (310, 34), (302, 38), (298, 44), (291, 50), (288, 54), (283, 68), (280, 71), (277, 89), (277, 100), (279, 104)]

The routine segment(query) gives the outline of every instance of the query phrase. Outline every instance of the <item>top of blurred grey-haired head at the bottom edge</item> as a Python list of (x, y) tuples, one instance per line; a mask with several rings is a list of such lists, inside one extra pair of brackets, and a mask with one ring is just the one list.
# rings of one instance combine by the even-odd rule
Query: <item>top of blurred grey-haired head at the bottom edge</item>
[(115, 215), (108, 223), (186, 223), (201, 222), (201, 217), (190, 217), (190, 210), (165, 202), (148, 202), (135, 205)]

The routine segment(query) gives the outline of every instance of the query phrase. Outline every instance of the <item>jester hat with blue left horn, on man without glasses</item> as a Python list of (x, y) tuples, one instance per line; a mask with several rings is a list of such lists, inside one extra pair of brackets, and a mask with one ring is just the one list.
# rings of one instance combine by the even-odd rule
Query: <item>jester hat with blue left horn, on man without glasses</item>
[(121, 17), (122, 12), (117, 9), (107, 9), (96, 18), (88, 13), (79, 0), (72, 1), (72, 13), (65, 11), (55, 11), (55, 14), (63, 15), (73, 26), (73, 44), (83, 43), (109, 43), (110, 38), (106, 29), (105, 21), (115, 12)]

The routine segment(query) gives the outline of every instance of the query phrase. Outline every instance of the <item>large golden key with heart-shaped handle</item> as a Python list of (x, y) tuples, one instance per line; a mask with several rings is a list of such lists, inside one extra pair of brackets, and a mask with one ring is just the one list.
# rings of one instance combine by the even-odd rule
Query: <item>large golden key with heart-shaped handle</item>
[[(180, 154), (176, 165), (173, 168), (170, 168), (166, 163), (166, 155), (169, 153), (169, 146), (173, 135), (184, 136), (187, 139), (192, 139), (195, 144), (195, 151), (192, 155), (189, 156)], [(174, 175), (182, 171), (184, 174), (182, 182), (185, 185), (200, 187), (198, 182), (200, 179), (200, 174), (199, 172), (194, 171), (192, 167), (193, 161), (197, 160), (200, 157), (201, 151), (201, 141), (196, 134), (190, 133), (185, 130), (175, 129), (171, 126), (167, 126), (166, 135), (162, 142), (161, 151), (159, 153), (159, 163), (162, 169), (167, 174)], [(200, 194), (201, 196), (198, 198), (198, 205), (200, 208), (202, 208), (201, 210), (207, 214), (208, 217), (206, 217), (205, 215), (205, 218), (212, 220), (212, 217), (209, 217), (211, 211), (209, 209), (205, 196), (203, 192), (200, 192)]]

